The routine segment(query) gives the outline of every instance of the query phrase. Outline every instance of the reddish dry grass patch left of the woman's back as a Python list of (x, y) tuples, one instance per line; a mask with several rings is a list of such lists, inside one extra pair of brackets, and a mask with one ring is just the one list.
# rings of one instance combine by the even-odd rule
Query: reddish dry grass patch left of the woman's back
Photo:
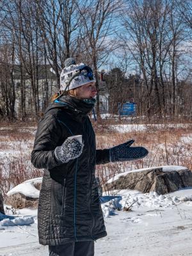
[(0, 134), (0, 191), (3, 196), (14, 186), (42, 176), (31, 164), (35, 127), (1, 125)]

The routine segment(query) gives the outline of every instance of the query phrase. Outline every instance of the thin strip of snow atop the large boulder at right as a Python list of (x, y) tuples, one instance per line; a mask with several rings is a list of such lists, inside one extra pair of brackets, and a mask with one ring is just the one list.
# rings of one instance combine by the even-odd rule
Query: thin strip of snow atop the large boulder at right
[(108, 184), (111, 182), (114, 182), (115, 180), (118, 180), (120, 177), (122, 176), (126, 176), (128, 173), (133, 173), (133, 172), (143, 172), (143, 171), (147, 171), (147, 170), (154, 170), (157, 168), (162, 168), (163, 172), (173, 172), (173, 171), (179, 171), (179, 170), (188, 170), (188, 168), (184, 167), (184, 166), (174, 166), (174, 165), (166, 165), (166, 166), (155, 166), (155, 167), (150, 167), (150, 168), (142, 168), (142, 169), (138, 169), (138, 170), (132, 170), (132, 171), (128, 171), (128, 172), (123, 172), (123, 173), (119, 173), (117, 175), (115, 175), (113, 178), (108, 180)]

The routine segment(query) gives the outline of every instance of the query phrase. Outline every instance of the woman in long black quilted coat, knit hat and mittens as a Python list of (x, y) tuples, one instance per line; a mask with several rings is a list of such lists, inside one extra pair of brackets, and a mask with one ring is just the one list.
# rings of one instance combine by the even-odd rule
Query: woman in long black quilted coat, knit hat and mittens
[[(128, 141), (96, 150), (88, 113), (95, 104), (95, 77), (83, 63), (65, 61), (61, 88), (38, 124), (31, 162), (44, 168), (38, 205), (40, 244), (49, 255), (92, 256), (94, 241), (107, 235), (100, 207), (95, 164), (129, 161), (148, 154)], [(83, 143), (74, 138), (82, 135)]]

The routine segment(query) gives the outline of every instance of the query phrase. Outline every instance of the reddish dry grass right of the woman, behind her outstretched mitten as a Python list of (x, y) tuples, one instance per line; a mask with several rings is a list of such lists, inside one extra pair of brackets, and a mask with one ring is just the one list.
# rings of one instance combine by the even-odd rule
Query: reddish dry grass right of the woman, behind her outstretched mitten
[[(184, 138), (190, 136), (190, 141)], [(131, 162), (109, 163), (97, 166), (97, 175), (101, 183), (113, 179), (118, 173), (140, 168), (148, 168), (163, 165), (180, 165), (192, 170), (192, 127), (170, 128), (164, 126), (161, 129), (147, 127), (146, 131), (132, 131), (118, 133), (114, 131), (97, 132), (97, 148), (108, 148), (124, 143), (134, 138), (133, 146), (142, 145), (148, 149), (148, 156), (144, 159)], [(108, 189), (106, 189), (108, 190)], [(110, 191), (113, 193), (113, 191)]]

